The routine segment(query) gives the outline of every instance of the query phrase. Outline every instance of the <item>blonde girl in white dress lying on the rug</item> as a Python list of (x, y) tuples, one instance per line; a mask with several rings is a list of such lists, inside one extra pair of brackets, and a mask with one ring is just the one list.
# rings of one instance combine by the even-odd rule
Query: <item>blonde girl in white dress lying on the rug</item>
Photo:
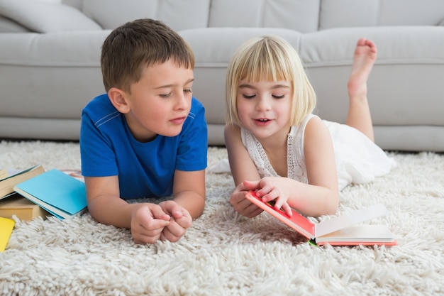
[(292, 214), (335, 214), (339, 191), (352, 182), (387, 174), (393, 161), (374, 144), (367, 78), (377, 56), (371, 40), (358, 40), (348, 82), (346, 124), (312, 112), (313, 87), (296, 50), (277, 36), (252, 38), (228, 65), (225, 141), (235, 182), (230, 202), (243, 216), (261, 209), (245, 199), (255, 190)]

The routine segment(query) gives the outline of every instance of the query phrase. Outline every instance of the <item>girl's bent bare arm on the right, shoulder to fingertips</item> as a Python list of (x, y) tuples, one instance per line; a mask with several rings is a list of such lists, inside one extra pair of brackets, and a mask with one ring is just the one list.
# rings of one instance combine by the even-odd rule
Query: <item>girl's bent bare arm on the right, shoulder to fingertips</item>
[(287, 177), (264, 177), (258, 197), (289, 212), (290, 207), (306, 216), (335, 214), (339, 192), (333, 143), (328, 128), (318, 117), (310, 119), (304, 133), (304, 155), (309, 184)]

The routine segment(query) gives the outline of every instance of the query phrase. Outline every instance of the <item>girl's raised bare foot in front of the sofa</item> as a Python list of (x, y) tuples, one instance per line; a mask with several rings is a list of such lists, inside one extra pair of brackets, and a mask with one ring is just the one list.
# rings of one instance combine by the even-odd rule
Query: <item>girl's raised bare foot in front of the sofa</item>
[(353, 57), (352, 72), (348, 80), (348, 95), (367, 98), (367, 79), (377, 56), (377, 48), (372, 40), (360, 38)]

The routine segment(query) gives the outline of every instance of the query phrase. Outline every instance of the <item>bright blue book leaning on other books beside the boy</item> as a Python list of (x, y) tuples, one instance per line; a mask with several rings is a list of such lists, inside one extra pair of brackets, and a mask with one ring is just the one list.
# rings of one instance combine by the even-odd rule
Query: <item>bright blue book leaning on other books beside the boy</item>
[(60, 219), (87, 208), (84, 182), (56, 169), (21, 182), (14, 190)]

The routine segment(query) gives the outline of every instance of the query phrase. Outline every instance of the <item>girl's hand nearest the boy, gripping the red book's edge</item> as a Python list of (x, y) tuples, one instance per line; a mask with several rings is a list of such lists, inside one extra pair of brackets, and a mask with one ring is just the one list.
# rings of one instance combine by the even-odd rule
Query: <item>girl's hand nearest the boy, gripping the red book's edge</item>
[(247, 194), (250, 190), (256, 190), (257, 184), (255, 182), (242, 182), (240, 183), (233, 194), (231, 194), (230, 202), (233, 204), (233, 207), (236, 212), (241, 214), (242, 216), (246, 216), (248, 218), (252, 218), (262, 213), (262, 209), (257, 207), (255, 204), (252, 204), (248, 199), (245, 199), (245, 194)]

